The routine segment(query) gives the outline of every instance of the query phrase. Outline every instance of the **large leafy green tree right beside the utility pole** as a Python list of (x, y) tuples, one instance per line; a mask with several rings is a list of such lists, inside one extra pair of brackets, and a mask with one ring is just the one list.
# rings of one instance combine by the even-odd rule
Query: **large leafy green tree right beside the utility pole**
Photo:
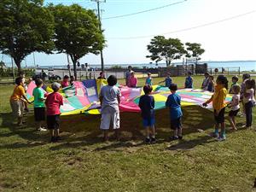
[(78, 4), (50, 4), (49, 10), (55, 16), (55, 49), (70, 55), (77, 79), (77, 61), (89, 53), (98, 55), (104, 47), (99, 21), (92, 10), (83, 9)]

